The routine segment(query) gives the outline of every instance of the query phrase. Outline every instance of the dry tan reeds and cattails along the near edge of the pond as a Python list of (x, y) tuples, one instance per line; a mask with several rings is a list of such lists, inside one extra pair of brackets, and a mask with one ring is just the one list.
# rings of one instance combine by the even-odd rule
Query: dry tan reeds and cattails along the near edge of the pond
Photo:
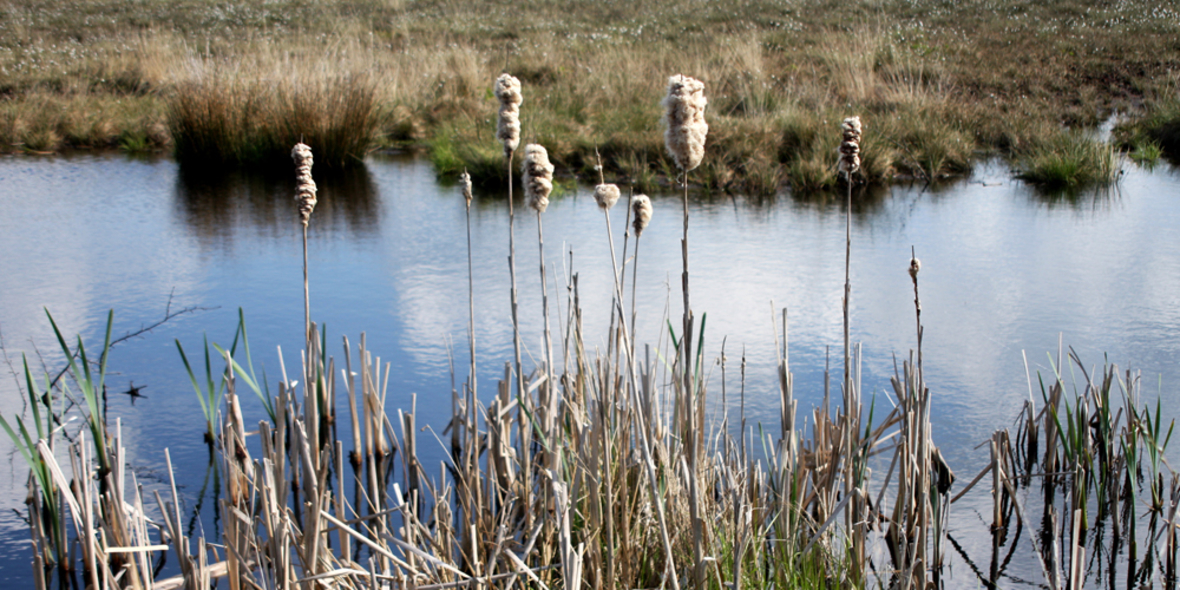
[[(509, 120), (502, 120), (506, 132), (496, 140), (510, 175), (520, 135), (532, 135), (512, 125), (522, 104), (520, 84), (513, 80), (497, 83)], [(688, 172), (708, 157), (703, 92), (696, 79), (669, 80), (666, 142), (686, 190)], [(843, 144), (834, 129), (830, 136), (833, 153), (841, 144), (850, 201), (851, 185), (871, 157), (872, 129), (848, 118)], [(297, 156), (303, 148), (296, 148)], [(296, 164), (309, 173), (309, 162), (297, 158)], [(540, 223), (552, 173), (546, 150), (526, 144), (522, 171), (544, 251)], [(467, 178), (461, 188), (470, 199)], [(604, 211), (621, 196), (605, 183), (596, 192)], [(310, 212), (307, 199), (300, 205)], [(237, 339), (228, 350), (215, 345), (224, 365), (217, 379), (206, 347), (206, 384), (192, 381), (205, 404), (223, 474), (218, 506), (224, 520), (217, 539), (185, 536), (175, 483), (170, 497), (146, 498), (127, 468), (119, 424), (109, 427), (99, 396), (110, 328), (94, 362), (80, 339), (71, 347), (54, 326), (70, 359), (67, 378), (41, 385), (26, 367), (37, 426), (30, 430), (18, 419), (14, 430), (0, 422), (32, 467), (37, 588), (81, 581), (94, 590), (204, 589), (225, 578), (231, 589), (922, 589), (942, 582), (953, 503), (989, 474), (995, 552), (1015, 520), (1030, 531), (1048, 586), (1083, 585), (1092, 563), (1087, 533), (1101, 522), (1113, 523), (1116, 546), (1126, 543), (1126, 565), (1115, 565), (1126, 571), (1128, 586), (1156, 579), (1174, 586), (1180, 479), (1163, 461), (1172, 427), (1165, 427), (1159, 404), (1142, 404), (1134, 375), (1115, 367), (1087, 371), (1070, 354), (1069, 363), (1082, 374), (1081, 391), (1070, 396), (1058, 355), (1055, 374), (1041, 381), (1040, 402), (1030, 387), (1015, 437), (997, 432), (989, 442), (988, 467), (956, 491), (930, 419), (935, 396), (923, 373), (920, 263), (912, 255), (914, 350), (892, 379), (896, 402), (884, 407), (861, 396), (859, 346), (847, 336), (853, 317), (846, 274), (837, 391), (825, 376), (822, 404), (800, 415), (784, 310), (772, 319), (779, 353), (778, 428), (753, 430), (743, 420), (734, 432), (706, 411), (714, 392), (707, 375), (706, 315), (697, 323), (689, 304), (688, 209), (683, 321), (678, 330), (669, 322), (667, 340), (656, 345), (636, 342), (631, 329), (634, 284), (649, 280), (638, 273), (638, 238), (653, 218), (650, 199), (635, 196), (630, 210), (634, 222), (624, 224), (621, 258), (615, 257), (617, 236), (607, 217), (615, 276), (607, 348), (588, 346), (597, 339), (583, 330), (575, 274), (563, 277), (564, 306), (556, 306), (556, 327), (550, 323), (542, 257), (545, 354), (526, 367), (514, 328), (516, 356), (505, 363), (503, 379), (480, 388), (472, 365), (451, 392), (451, 420), (440, 431), (448, 453), (438, 465), (427, 465), (420, 452), (424, 425), (415, 419), (417, 399), (408, 407), (388, 407), (391, 365), (368, 349), (363, 334), (355, 349), (343, 339), (337, 362), (306, 307), (306, 348), (293, 365), (299, 373), (290, 379), (282, 365), (275, 395), (266, 378), (254, 374), (244, 322), (237, 333), (243, 354), (236, 354)], [(306, 223), (300, 211), (291, 208), (293, 223)], [(632, 230), (635, 255), (629, 258)], [(514, 243), (512, 231), (510, 227)], [(624, 296), (629, 263), (630, 326)], [(906, 267), (899, 264), (898, 271)], [(510, 273), (507, 303), (516, 320), (511, 258)], [(473, 289), (471, 297), (474, 314)], [(470, 346), (476, 348), (473, 336)], [(720, 362), (725, 371), (723, 354)], [(186, 358), (185, 365), (191, 375)], [(53, 427), (63, 409), (53, 404), (71, 388), (86, 400), (79, 411), (85, 432), (63, 440)], [(267, 409), (256, 425), (243, 421), (241, 393), (247, 391)], [(350, 437), (341, 439), (343, 420)], [(72, 441), (54, 450), (54, 440)], [(1021, 498), (1020, 492), (1034, 479), (1042, 485), (1048, 523), (1037, 537), (1027, 520), (1028, 493)], [(1145, 510), (1147, 523), (1140, 526)], [(181, 573), (157, 579), (153, 563), (165, 555)], [(994, 565), (990, 578), (981, 575), (981, 581), (995, 586), (997, 571)]]

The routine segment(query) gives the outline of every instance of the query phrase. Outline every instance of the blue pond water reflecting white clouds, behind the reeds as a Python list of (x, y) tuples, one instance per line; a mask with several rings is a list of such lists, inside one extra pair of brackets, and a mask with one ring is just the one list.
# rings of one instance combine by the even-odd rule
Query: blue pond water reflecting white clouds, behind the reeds
[[(387, 407), (408, 408), (417, 394), (419, 424), (441, 430), (450, 415), (452, 359), (455, 367), (468, 362), (464, 199), (428, 163), (412, 157), (372, 157), (361, 170), (319, 183), (309, 235), (310, 301), (313, 319), (327, 326), (329, 353), (340, 356), (341, 336), (355, 343), (366, 333), (368, 348), (392, 363)], [(566, 302), (553, 277), (564, 284), (576, 273), (588, 346), (604, 348), (611, 264), (591, 190), (570, 183), (553, 198), (544, 217), (545, 260), (551, 299), (560, 306), (555, 317)], [(140, 484), (166, 483), (168, 447), (185, 509), (211, 503), (203, 490), (209, 484), (203, 417), (173, 340), (190, 355), (199, 354), (203, 334), (228, 345), (242, 308), (255, 366), (276, 381), (281, 347), (288, 369), (297, 372), (302, 254), (291, 181), (210, 178), (182, 173), (169, 159), (116, 155), (6, 157), (0, 191), (0, 335), (8, 359), (0, 367), (0, 414), (26, 412), (17, 385), (21, 354), (37, 367), (60, 367), (45, 309), (67, 336), (80, 334), (94, 348), (109, 309), (116, 337), (169, 310), (191, 309), (112, 349), (109, 419), (122, 421)], [(852, 339), (863, 343), (865, 394), (890, 391), (894, 355), (907, 355), (916, 343), (906, 273), (912, 247), (922, 260), (935, 438), (961, 476), (986, 463), (986, 448), (976, 446), (1010, 427), (1029, 398), (1024, 353), (1034, 386), (1037, 372), (1051, 372), (1049, 354), (1063, 342), (1088, 365), (1101, 366), (1107, 355), (1141, 371), (1145, 396), (1159, 395), (1165, 408), (1176, 408), (1178, 198), (1180, 176), (1172, 168), (1147, 171), (1129, 163), (1117, 186), (1097, 192), (1045, 195), (1011, 179), (1004, 165), (985, 163), (946, 186), (900, 185), (858, 196), (851, 316)], [(681, 313), (681, 204), (671, 195), (655, 196), (654, 204), (637, 260), (641, 342), (655, 342), (664, 315), (676, 323)], [(727, 386), (735, 392), (745, 355), (746, 415), (750, 424), (778, 427), (774, 309), (789, 309), (801, 414), (822, 400), (828, 348), (839, 371), (843, 199), (695, 196), (690, 210), (691, 299), (696, 314), (708, 316), (706, 356), (719, 356), (725, 341)], [(624, 217), (623, 206), (611, 211), (617, 248)], [(477, 194), (471, 232), (477, 360), (487, 396), (512, 356), (503, 195)], [(532, 366), (527, 359), (542, 349), (543, 323), (531, 212), (518, 215), (516, 238), (525, 365)], [(466, 372), (457, 373), (461, 381)], [(720, 380), (715, 371), (715, 405)], [(132, 385), (143, 387), (143, 398), (118, 393)], [(1040, 389), (1032, 394), (1040, 401)], [(244, 401), (247, 424), (264, 415), (256, 400)], [(729, 411), (738, 412), (733, 394), (729, 401)], [(27, 585), (28, 532), (21, 520), (27, 471), (7, 438), (0, 437), (0, 585)], [(424, 454), (437, 465), (442, 446)], [(963, 530), (979, 527), (985, 517), (978, 514), (990, 510), (990, 500), (961, 505)], [(216, 517), (209, 512), (201, 511), (190, 526), (215, 538)], [(968, 555), (982, 551), (981, 559), (990, 551), (990, 538), (959, 542)], [(955, 559), (951, 586), (978, 586)], [(1014, 571), (1037, 581), (1032, 562)]]

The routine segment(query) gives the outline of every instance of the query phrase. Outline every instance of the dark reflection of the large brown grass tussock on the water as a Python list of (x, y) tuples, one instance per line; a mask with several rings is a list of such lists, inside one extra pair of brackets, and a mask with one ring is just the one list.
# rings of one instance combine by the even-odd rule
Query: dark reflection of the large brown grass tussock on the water
[[(380, 224), (380, 195), (368, 168), (313, 171), (317, 203), (312, 230), (373, 235)], [(182, 166), (176, 177), (177, 215), (203, 243), (230, 242), (240, 231), (286, 234), (299, 225), (294, 171), (217, 172)]]

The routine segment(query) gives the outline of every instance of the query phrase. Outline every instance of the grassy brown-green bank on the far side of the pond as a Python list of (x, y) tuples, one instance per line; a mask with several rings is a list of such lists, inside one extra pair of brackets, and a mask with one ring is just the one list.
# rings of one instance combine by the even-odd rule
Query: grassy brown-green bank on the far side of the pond
[[(491, 182), (489, 88), (509, 71), (525, 86), (526, 135), (559, 168), (585, 175), (597, 146), (614, 177), (643, 188), (670, 171), (658, 100), (683, 72), (710, 99), (700, 182), (746, 192), (832, 185), (834, 151), (817, 138), (851, 112), (879, 144), (866, 179), (938, 179), (979, 151), (1060, 145), (1114, 111), (1166, 118), (1180, 70), (1180, 24), (1147, 0), (9, 1), (0, 32), (5, 150), (249, 162), (326, 132), (352, 142), (327, 160), (411, 146), (440, 172)], [(359, 79), (365, 112), (329, 109), (323, 93)], [(237, 105), (225, 120), (250, 122), (228, 124), (237, 137), (186, 118), (225, 100)], [(312, 112), (326, 109), (336, 131)]]

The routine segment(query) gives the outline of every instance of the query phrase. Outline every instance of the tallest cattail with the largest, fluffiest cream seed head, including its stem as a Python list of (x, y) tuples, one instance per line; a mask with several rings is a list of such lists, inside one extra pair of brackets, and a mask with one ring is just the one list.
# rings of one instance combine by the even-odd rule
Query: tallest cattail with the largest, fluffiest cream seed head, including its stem
[(697, 589), (704, 588), (704, 546), (703, 546), (703, 523), (700, 517), (700, 503), (697, 493), (697, 417), (696, 409), (700, 400), (696, 400), (696, 392), (693, 379), (693, 308), (688, 299), (688, 172), (701, 165), (704, 158), (704, 137), (709, 133), (709, 125), (704, 122), (704, 107), (708, 99), (704, 98), (704, 84), (695, 78), (676, 74), (668, 79), (668, 96), (664, 97), (664, 145), (680, 168), (681, 183), (683, 185), (684, 205), (684, 237), (681, 240), (681, 256), (683, 258), (683, 271), (681, 274), (681, 289), (684, 294), (684, 317), (683, 334), (681, 334), (681, 362), (683, 362), (684, 381), (683, 392), (688, 421), (688, 467), (689, 467), (689, 507), (693, 524), (693, 560), (694, 575)]

